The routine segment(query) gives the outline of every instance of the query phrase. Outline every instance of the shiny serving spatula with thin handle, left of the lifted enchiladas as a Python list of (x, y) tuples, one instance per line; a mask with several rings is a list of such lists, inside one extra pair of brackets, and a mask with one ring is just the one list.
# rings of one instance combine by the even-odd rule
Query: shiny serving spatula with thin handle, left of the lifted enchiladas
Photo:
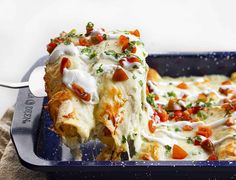
[(29, 81), (28, 82), (4, 82), (0, 81), (0, 86), (6, 87), (6, 88), (25, 88), (29, 87), (31, 93), (36, 97), (44, 97), (46, 96), (45, 87), (44, 87), (44, 68), (45, 66), (38, 66), (35, 68), (32, 73), (30, 74)]

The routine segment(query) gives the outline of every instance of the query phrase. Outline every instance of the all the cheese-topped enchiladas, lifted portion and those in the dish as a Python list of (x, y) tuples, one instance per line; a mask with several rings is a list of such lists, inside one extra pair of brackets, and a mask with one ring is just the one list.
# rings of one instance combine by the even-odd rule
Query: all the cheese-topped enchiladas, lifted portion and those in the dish
[(98, 160), (235, 159), (236, 74), (160, 77), (138, 30), (92, 23), (84, 34), (62, 32), (47, 50), (48, 110), (72, 151), (99, 139)]

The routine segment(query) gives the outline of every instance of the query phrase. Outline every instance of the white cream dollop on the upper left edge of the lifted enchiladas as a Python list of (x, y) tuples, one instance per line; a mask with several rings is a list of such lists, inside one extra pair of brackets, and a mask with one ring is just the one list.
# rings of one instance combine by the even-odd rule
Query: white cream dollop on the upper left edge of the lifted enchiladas
[(69, 45), (65, 45), (63, 43), (59, 44), (51, 53), (48, 62), (55, 63), (59, 59), (59, 57), (62, 55), (77, 56), (78, 49), (73, 43)]

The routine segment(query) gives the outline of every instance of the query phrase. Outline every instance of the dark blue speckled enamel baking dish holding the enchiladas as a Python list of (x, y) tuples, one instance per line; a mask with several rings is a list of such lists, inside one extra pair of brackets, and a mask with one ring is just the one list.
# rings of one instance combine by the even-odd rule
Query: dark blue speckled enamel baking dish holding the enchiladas
[[(46, 59), (39, 59), (22, 80), (27, 81), (31, 71)], [(236, 52), (159, 53), (150, 55), (147, 63), (161, 76), (229, 76), (236, 71)], [(27, 168), (47, 172), (49, 179), (236, 178), (236, 161), (95, 161), (102, 147), (99, 142), (84, 144), (83, 160), (75, 161), (50, 130), (52, 121), (44, 108), (46, 104), (47, 98), (36, 98), (28, 88), (20, 89), (11, 136), (20, 162)]]

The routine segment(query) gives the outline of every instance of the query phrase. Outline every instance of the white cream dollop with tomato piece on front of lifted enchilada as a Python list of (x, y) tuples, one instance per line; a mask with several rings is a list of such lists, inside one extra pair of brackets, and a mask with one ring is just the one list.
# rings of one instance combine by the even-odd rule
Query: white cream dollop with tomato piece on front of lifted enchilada
[(87, 93), (91, 94), (92, 98), (89, 103), (97, 104), (99, 102), (96, 79), (88, 72), (82, 69), (69, 70), (65, 68), (63, 71), (62, 80), (63, 83), (70, 89), (72, 89), (72, 84), (76, 83), (81, 86)]

